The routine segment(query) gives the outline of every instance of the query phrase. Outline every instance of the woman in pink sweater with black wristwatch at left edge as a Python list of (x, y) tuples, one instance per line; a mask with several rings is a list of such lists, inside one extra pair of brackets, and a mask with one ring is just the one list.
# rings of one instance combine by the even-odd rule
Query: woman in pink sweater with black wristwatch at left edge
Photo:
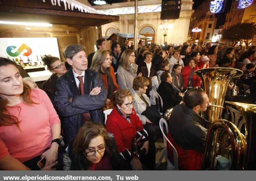
[(59, 138), (60, 119), (47, 94), (31, 90), (15, 62), (0, 57), (0, 170), (40, 170), (40, 157), (42, 170), (55, 170)]

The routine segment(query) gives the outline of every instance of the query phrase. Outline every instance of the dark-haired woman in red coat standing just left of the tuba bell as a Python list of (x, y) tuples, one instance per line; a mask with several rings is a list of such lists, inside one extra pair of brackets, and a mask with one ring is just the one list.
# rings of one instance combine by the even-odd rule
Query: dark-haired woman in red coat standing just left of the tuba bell
[(199, 68), (196, 66), (195, 60), (193, 58), (189, 58), (186, 62), (186, 66), (182, 68), (184, 90), (187, 89), (189, 81), (191, 81), (189, 85), (191, 88), (201, 86), (201, 78), (194, 75), (194, 72), (198, 69)]

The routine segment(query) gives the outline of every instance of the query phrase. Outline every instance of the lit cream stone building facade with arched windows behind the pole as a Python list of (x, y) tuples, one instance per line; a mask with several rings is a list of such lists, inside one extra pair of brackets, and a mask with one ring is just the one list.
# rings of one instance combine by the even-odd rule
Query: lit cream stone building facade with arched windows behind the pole
[[(192, 10), (192, 0), (182, 0), (179, 19), (168, 19), (166, 30), (160, 28), (165, 25), (165, 20), (160, 19), (161, 0), (141, 0), (138, 2), (138, 34), (149, 37), (148, 42), (163, 44), (165, 41), (172, 44), (182, 44), (187, 41), (189, 22)], [(102, 26), (102, 36), (112, 33), (134, 33), (134, 1), (93, 6), (104, 14), (117, 15), (119, 22), (108, 23)]]

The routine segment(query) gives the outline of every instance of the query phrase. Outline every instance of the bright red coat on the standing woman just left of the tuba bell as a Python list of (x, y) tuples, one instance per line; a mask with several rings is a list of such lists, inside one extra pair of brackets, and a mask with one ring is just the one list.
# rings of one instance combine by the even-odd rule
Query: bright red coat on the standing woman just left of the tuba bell
[[(199, 68), (197, 66), (195, 66), (195, 69), (194, 71), (198, 70)], [(190, 75), (190, 72), (191, 72), (191, 68), (186, 65), (185, 67), (182, 68), (182, 76), (183, 76), (183, 87), (184, 87), (184, 90), (187, 89), (187, 85), (188, 85), (188, 79), (189, 79), (189, 75)], [(193, 77), (192, 77), (192, 85), (190, 84), (190, 87), (200, 87), (201, 86), (201, 78), (200, 77), (197, 77), (193, 74)]]

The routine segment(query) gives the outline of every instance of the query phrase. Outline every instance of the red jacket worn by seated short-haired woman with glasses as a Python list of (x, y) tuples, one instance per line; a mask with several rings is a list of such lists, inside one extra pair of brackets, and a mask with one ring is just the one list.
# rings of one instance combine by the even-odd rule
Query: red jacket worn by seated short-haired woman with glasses
[(132, 151), (133, 137), (136, 136), (137, 131), (143, 130), (144, 127), (134, 109), (132, 109), (130, 124), (117, 112), (116, 108), (114, 107), (112, 112), (108, 115), (106, 129), (108, 132), (114, 134), (117, 151), (118, 153), (122, 153), (126, 148), (130, 152)]

